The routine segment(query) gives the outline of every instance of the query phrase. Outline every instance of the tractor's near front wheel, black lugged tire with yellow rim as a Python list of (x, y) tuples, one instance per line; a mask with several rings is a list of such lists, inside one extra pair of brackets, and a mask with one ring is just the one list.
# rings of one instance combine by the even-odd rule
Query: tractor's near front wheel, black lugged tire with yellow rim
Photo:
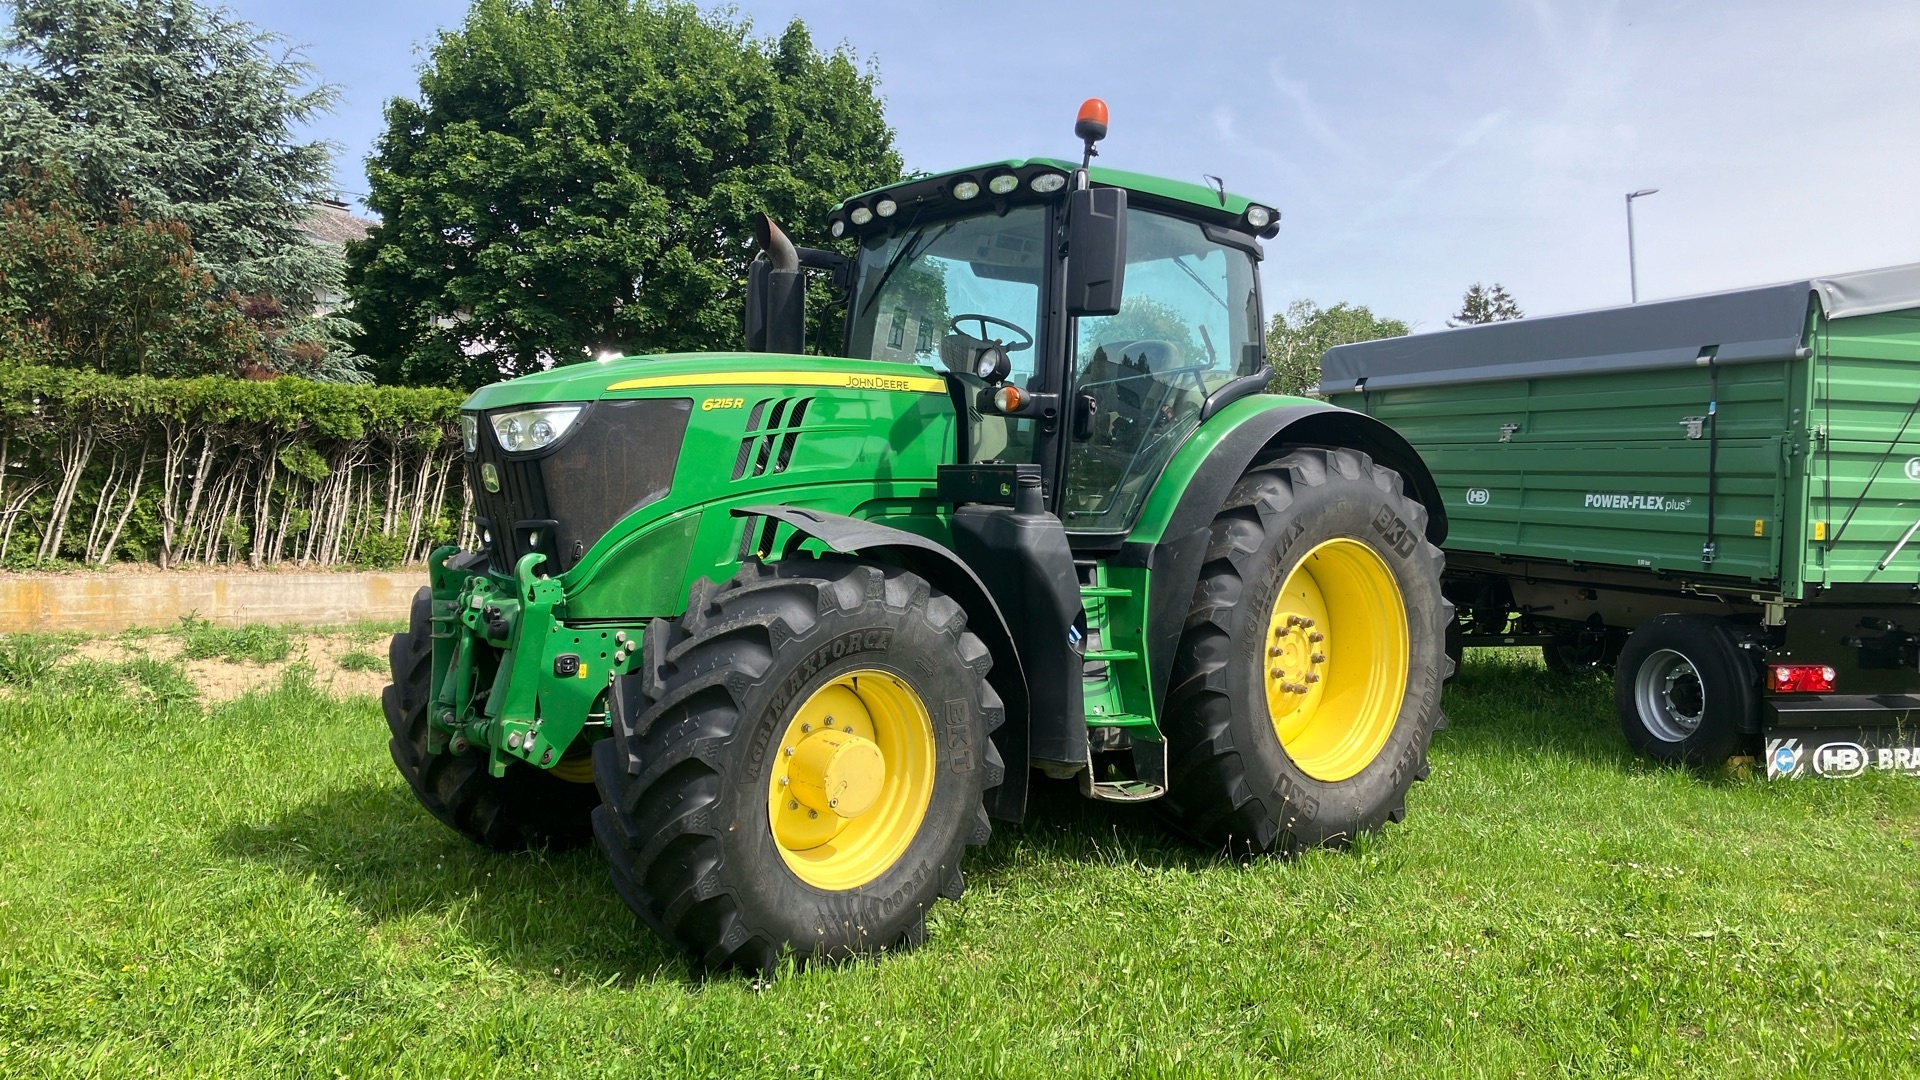
[(966, 611), (899, 567), (793, 555), (699, 582), (643, 650), (643, 707), (593, 753), (628, 907), (710, 969), (918, 944), (1002, 774)]

